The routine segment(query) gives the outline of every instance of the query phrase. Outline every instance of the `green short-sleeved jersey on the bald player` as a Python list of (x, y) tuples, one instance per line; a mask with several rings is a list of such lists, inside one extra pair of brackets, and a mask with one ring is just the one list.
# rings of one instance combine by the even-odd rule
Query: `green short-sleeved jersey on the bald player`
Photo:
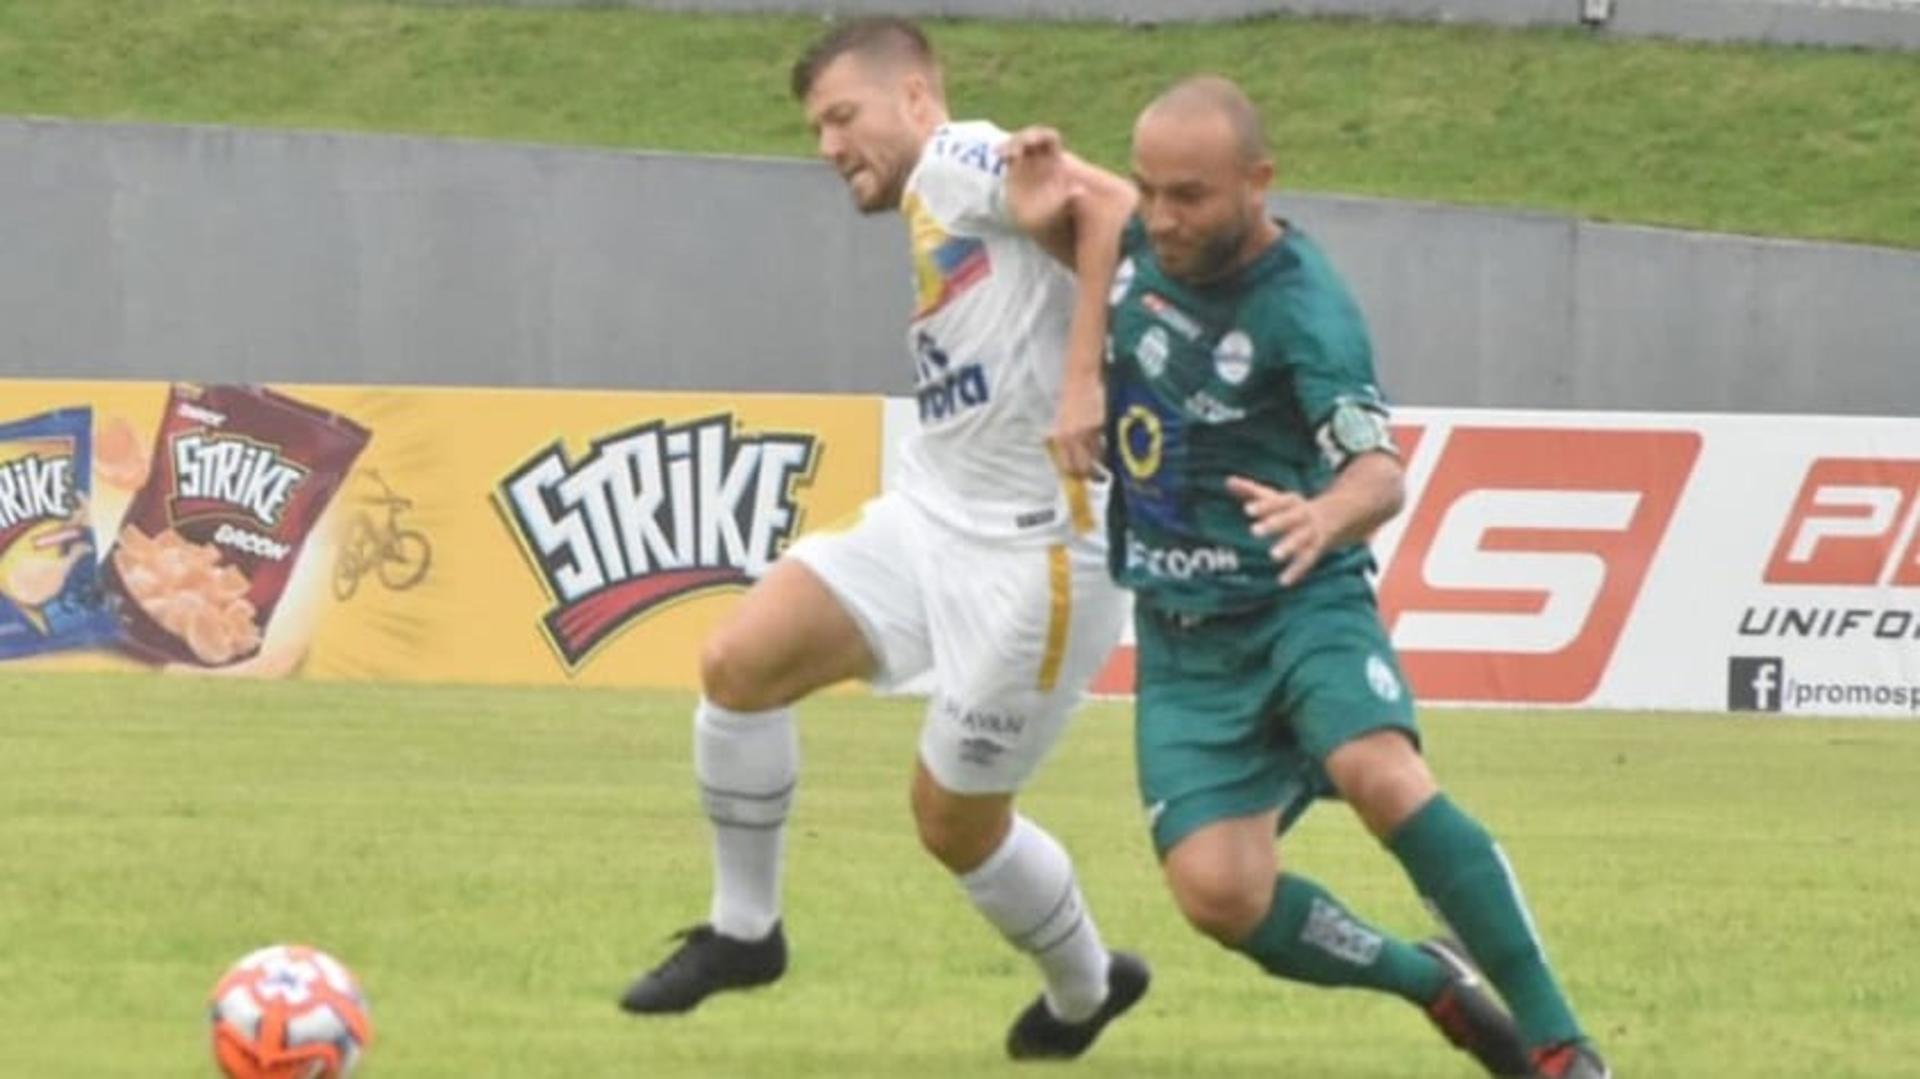
[[(1108, 330), (1114, 578), (1181, 612), (1283, 599), (1277, 538), (1254, 536), (1227, 476), (1313, 497), (1348, 457), (1390, 449), (1373, 346), (1346, 284), (1292, 227), (1204, 286), (1160, 271), (1139, 219), (1121, 238)], [(1363, 574), (1365, 545), (1300, 582)]]

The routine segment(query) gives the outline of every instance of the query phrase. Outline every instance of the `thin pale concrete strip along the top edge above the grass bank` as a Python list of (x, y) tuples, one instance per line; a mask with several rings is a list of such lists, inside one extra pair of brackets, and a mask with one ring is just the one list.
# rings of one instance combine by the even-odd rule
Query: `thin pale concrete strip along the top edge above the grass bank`
[[(672, 12), (899, 13), (985, 19), (1173, 23), (1252, 15), (1356, 15), (1490, 25), (1582, 25), (1582, 0), (428, 0), (528, 8), (630, 6)], [(1601, 33), (1693, 40), (1764, 40), (1920, 48), (1916, 0), (1611, 0)]]

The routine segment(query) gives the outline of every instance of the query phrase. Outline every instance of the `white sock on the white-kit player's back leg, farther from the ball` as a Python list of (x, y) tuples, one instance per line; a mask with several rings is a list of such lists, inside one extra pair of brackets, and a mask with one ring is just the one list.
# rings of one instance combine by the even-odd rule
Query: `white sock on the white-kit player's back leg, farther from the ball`
[(962, 875), (960, 885), (987, 922), (1041, 966), (1054, 1016), (1077, 1023), (1100, 1010), (1110, 956), (1066, 847), (1014, 814), (1000, 849)]

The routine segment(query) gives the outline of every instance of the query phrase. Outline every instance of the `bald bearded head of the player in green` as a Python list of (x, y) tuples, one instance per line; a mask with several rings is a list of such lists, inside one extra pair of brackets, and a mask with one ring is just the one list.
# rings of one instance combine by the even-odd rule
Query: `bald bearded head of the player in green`
[(1167, 275), (1210, 280), (1231, 269), (1260, 221), (1269, 175), (1240, 156), (1227, 117), (1150, 109), (1133, 129), (1140, 221)]

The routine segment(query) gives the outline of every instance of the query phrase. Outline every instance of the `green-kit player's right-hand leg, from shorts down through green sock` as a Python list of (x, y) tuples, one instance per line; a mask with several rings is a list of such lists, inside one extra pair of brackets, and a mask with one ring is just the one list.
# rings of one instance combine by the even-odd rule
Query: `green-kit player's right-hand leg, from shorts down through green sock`
[(1281, 649), (1281, 662), (1290, 666), (1288, 697), (1302, 749), (1321, 760), (1332, 787), (1500, 989), (1524, 1046), (1578, 1043), (1580, 1027), (1505, 856), (1438, 791), (1419, 753), (1413, 699), (1371, 593), (1317, 599), (1300, 612), (1300, 626), (1296, 641)]

